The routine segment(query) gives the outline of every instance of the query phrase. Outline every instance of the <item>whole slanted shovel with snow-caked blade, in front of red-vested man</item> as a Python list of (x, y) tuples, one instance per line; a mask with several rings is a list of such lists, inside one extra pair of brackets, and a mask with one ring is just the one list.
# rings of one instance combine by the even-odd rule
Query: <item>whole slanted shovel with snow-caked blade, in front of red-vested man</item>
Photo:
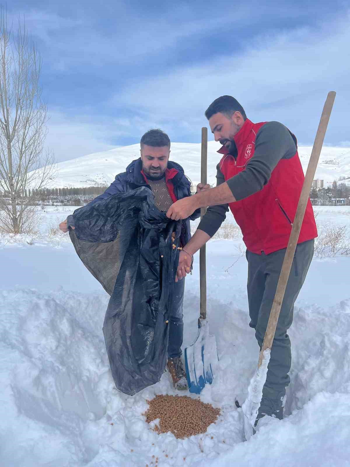
[(286, 291), (288, 277), (289, 277), (290, 269), (292, 267), (295, 248), (298, 242), (298, 238), (299, 238), (299, 234), (301, 230), (301, 224), (304, 219), (304, 214), (306, 210), (306, 205), (308, 203), (308, 198), (310, 195), (312, 181), (314, 179), (317, 163), (320, 158), (322, 144), (323, 144), (324, 136), (326, 134), (329, 117), (332, 111), (335, 98), (336, 98), (336, 93), (334, 91), (329, 92), (326, 102), (323, 106), (321, 120), (318, 125), (314, 146), (312, 148), (310, 161), (308, 163), (308, 170), (306, 172), (304, 184), (301, 189), (301, 195), (299, 198), (298, 207), (297, 207), (296, 214), (295, 214), (292, 232), (290, 233), (286, 254), (285, 254), (284, 261), (282, 264), (282, 269), (280, 272), (280, 278), (277, 284), (275, 297), (273, 299), (273, 304), (272, 304), (272, 308), (270, 312), (270, 318), (267, 323), (264, 342), (261, 347), (261, 351), (259, 355), (258, 369), (255, 375), (252, 377), (252, 380), (248, 388), (248, 397), (245, 400), (245, 403), (242, 405), (242, 410), (244, 413), (244, 431), (245, 431), (246, 440), (250, 439), (253, 434), (254, 423), (258, 415), (258, 410), (259, 410), (261, 398), (262, 398), (262, 390), (266, 382), (267, 365), (270, 361), (273, 338), (275, 335), (278, 318), (280, 316), (280, 310), (281, 310), (281, 306), (283, 302), (283, 297)]

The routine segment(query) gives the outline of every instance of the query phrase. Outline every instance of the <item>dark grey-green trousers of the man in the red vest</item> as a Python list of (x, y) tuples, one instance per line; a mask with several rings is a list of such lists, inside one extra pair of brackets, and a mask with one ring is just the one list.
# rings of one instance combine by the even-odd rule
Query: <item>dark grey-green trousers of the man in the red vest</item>
[[(248, 250), (246, 252), (248, 261), (248, 303), (251, 318), (249, 325), (255, 329), (255, 337), (260, 349), (264, 340), (285, 253), (286, 248), (269, 255), (265, 255), (265, 253), (257, 255)], [(297, 245), (273, 339), (263, 397), (280, 399), (285, 395), (286, 387), (290, 382), (288, 372), (291, 367), (292, 357), (287, 329), (292, 324), (294, 302), (304, 283), (313, 255), (314, 240), (304, 241)]]

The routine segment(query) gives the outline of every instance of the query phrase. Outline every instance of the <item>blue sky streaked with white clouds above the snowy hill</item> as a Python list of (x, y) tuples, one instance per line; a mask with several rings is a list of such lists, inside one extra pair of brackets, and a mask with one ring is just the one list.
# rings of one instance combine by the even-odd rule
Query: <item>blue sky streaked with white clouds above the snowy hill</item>
[(334, 90), (325, 142), (350, 146), (348, 1), (12, 0), (7, 12), (14, 24), (25, 15), (41, 52), (58, 161), (139, 142), (152, 127), (199, 142), (223, 94), (311, 145)]

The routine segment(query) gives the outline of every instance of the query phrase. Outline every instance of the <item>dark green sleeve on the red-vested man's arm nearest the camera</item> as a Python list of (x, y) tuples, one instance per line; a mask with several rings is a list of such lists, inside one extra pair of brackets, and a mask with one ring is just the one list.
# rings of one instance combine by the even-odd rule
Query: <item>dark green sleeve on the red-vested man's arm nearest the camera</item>
[(256, 135), (254, 155), (245, 170), (227, 180), (236, 200), (262, 190), (280, 160), (293, 157), (295, 152), (295, 136), (282, 123), (270, 121), (261, 127)]

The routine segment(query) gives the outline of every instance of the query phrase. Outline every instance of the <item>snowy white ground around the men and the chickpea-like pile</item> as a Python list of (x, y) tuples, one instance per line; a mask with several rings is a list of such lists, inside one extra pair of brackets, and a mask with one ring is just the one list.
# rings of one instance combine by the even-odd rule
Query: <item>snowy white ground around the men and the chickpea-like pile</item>
[[(207, 433), (175, 439), (142, 415), (147, 399), (175, 394), (168, 374), (133, 397), (114, 389), (102, 335), (109, 297), (68, 234), (55, 231), (73, 210), (41, 212), (39, 236), (0, 237), (1, 467), (155, 467), (153, 455), (159, 467), (350, 466), (350, 256), (314, 258), (289, 332), (285, 418), (267, 419), (243, 442), (234, 398), (244, 399), (258, 362), (247, 264), (239, 236), (208, 243), (208, 315), (220, 364), (201, 400), (221, 416)], [(350, 229), (350, 207), (315, 211), (320, 230)], [(196, 337), (198, 263), (196, 255), (186, 279), (184, 347)]]

